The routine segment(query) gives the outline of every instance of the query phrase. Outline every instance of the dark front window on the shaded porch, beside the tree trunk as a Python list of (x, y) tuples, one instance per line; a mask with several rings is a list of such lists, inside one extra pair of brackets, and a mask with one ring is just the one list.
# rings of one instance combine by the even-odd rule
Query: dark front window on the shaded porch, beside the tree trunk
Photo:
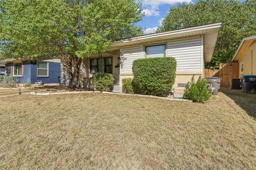
[(112, 58), (91, 59), (91, 73), (112, 73)]

